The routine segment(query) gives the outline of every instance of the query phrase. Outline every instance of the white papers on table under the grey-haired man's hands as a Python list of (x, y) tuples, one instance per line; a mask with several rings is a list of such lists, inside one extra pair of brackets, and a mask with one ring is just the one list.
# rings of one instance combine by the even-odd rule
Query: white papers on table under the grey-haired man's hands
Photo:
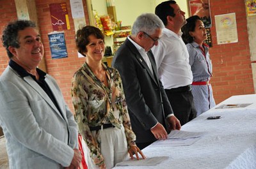
[(157, 146), (188, 146), (200, 140), (203, 133), (173, 130), (166, 140), (159, 140), (152, 145)]

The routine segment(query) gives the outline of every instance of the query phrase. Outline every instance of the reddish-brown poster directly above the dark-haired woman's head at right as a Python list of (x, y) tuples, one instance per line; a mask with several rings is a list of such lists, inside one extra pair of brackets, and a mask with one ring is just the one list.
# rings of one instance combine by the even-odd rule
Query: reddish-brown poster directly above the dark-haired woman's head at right
[(211, 9), (209, 0), (189, 0), (190, 15), (198, 15), (205, 27), (212, 27)]

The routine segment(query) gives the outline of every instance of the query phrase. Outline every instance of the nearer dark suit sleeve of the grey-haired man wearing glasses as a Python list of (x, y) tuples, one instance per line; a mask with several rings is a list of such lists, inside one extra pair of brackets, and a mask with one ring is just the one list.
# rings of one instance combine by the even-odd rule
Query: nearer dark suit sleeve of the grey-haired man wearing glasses
[(128, 51), (120, 51), (116, 53), (115, 62), (113, 62), (114, 68), (118, 70), (122, 77), (122, 84), (124, 86), (124, 94), (126, 98), (126, 103), (131, 110), (132, 114), (136, 116), (138, 121), (145, 130), (152, 128), (152, 126), (157, 124), (157, 119), (152, 114), (150, 108), (145, 103), (145, 99), (141, 94), (140, 82), (137, 77), (137, 72), (135, 64), (133, 63), (134, 55), (128, 56)]

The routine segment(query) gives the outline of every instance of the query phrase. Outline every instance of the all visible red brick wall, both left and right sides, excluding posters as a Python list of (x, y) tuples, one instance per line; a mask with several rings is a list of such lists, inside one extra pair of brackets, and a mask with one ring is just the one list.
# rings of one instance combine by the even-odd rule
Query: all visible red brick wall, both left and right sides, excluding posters
[[(0, 1), (0, 27), (10, 20), (15, 20), (15, 3), (14, 0)], [(69, 0), (35, 0), (38, 15), (38, 24), (40, 26), (42, 41), (45, 47), (45, 61), (47, 73), (56, 78), (61, 87), (61, 91), (73, 111), (70, 96), (71, 78), (74, 72), (83, 64), (84, 58), (77, 58), (75, 46), (74, 22), (70, 11)], [(63, 59), (51, 59), (49, 48), (48, 33), (52, 32), (51, 15), (49, 4), (67, 3), (68, 16), (70, 20), (70, 30), (65, 30), (65, 40), (67, 43), (68, 57)], [(88, 14), (86, 12), (86, 0), (83, 0), (86, 23), (88, 24)], [(238, 43), (230, 43), (225, 45), (217, 45), (216, 29), (214, 15), (225, 13), (236, 13)], [(212, 16), (212, 48), (210, 54), (213, 65), (213, 75), (211, 80), (216, 103), (220, 103), (224, 99), (232, 95), (253, 94), (252, 68), (250, 61), (250, 51), (248, 43), (248, 34), (246, 26), (246, 10), (244, 0), (211, 0), (211, 16)], [(0, 33), (0, 35), (1, 35)], [(2, 45), (0, 45), (0, 75), (8, 64), (8, 57)]]

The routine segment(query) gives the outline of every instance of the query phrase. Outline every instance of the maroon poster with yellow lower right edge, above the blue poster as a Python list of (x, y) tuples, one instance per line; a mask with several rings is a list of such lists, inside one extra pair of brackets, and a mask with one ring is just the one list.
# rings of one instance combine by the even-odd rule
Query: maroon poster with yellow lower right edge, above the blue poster
[(50, 4), (51, 20), (53, 31), (70, 29), (68, 10), (66, 3)]

